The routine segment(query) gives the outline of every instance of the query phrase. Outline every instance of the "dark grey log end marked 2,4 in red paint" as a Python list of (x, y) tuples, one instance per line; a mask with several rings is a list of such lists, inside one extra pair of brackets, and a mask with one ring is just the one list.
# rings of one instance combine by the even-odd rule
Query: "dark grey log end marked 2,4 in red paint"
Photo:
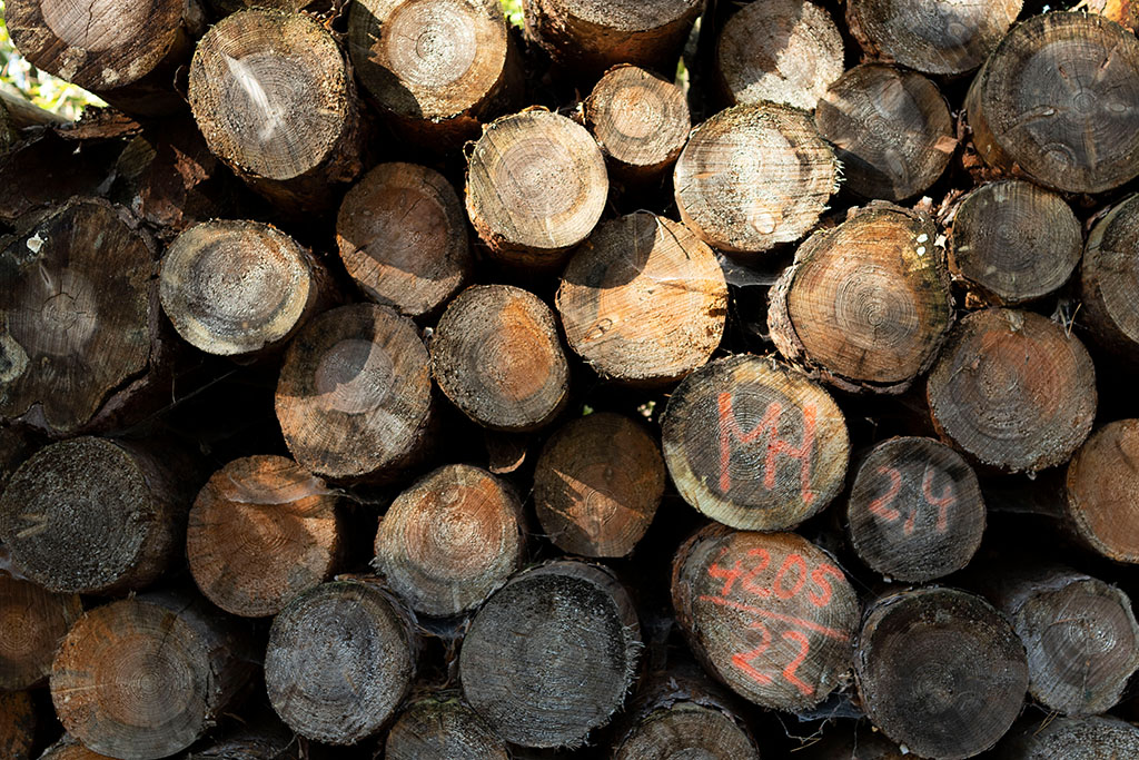
[(985, 502), (973, 468), (944, 443), (892, 438), (874, 447), (846, 506), (851, 544), (886, 578), (924, 583), (967, 565)]

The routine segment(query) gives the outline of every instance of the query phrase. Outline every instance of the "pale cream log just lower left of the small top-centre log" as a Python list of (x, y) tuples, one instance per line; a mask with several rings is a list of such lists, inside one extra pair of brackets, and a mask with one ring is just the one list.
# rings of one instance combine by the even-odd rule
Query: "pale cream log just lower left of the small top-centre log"
[(584, 126), (546, 111), (486, 126), (467, 164), (467, 214), (497, 259), (551, 269), (593, 230), (609, 191)]

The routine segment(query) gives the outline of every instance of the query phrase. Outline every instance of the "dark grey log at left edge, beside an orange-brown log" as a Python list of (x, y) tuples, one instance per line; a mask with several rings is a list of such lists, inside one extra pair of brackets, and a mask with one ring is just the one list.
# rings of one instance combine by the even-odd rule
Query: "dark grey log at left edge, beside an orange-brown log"
[(142, 588), (180, 555), (188, 501), (156, 453), (72, 439), (13, 475), (0, 496), (0, 541), (22, 574), (51, 591)]

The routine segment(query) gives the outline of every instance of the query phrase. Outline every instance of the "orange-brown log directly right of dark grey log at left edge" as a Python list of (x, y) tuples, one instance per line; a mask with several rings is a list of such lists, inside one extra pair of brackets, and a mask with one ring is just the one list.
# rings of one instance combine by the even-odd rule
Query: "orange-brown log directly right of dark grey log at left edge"
[(292, 459), (235, 459), (190, 508), (186, 556), (202, 593), (243, 618), (276, 615), (330, 580), (346, 541), (338, 497)]

